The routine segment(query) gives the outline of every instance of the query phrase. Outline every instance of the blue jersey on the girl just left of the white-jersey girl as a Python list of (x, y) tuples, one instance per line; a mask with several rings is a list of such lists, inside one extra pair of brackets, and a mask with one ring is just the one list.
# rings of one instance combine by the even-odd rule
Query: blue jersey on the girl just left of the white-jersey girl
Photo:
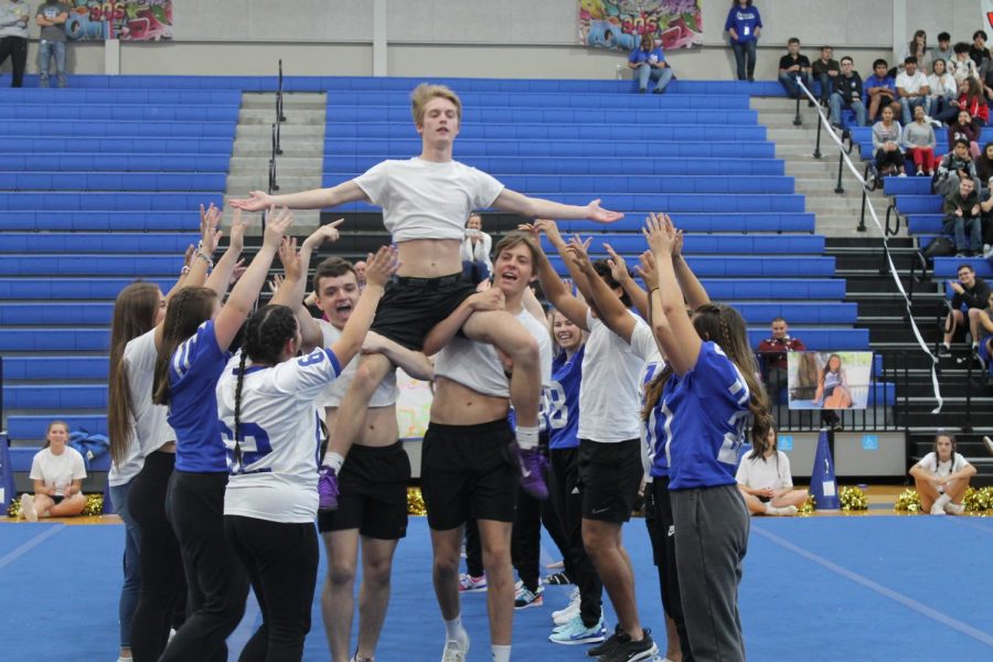
[(175, 431), (175, 468), (227, 473), (217, 425), (217, 380), (231, 359), (217, 346), (213, 320), (177, 348), (169, 363), (169, 425)]

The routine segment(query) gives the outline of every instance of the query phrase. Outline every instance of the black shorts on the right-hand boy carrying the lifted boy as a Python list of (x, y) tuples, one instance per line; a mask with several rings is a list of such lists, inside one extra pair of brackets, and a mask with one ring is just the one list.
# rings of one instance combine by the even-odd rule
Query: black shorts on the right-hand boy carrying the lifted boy
[(505, 418), (480, 425), (431, 423), (420, 451), (420, 491), (428, 525), (449, 531), (469, 517), (513, 522), (521, 471)]

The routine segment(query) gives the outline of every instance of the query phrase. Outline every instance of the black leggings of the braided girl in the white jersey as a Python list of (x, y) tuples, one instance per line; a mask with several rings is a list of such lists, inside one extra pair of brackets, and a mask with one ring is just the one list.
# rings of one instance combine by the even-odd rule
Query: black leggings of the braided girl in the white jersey
[(303, 658), (317, 584), (320, 553), (313, 524), (225, 515), (224, 530), (263, 613), (261, 627), (238, 661), (297, 662)]

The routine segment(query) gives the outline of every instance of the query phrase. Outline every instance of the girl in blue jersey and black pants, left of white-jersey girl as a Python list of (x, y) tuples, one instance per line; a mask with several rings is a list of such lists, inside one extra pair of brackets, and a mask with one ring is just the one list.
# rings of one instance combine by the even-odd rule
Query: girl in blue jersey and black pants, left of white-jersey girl
[(291, 222), (286, 210), (270, 214), (261, 248), (223, 307), (215, 290), (190, 287), (173, 297), (166, 313), (152, 402), (169, 406), (175, 433), (175, 470), (166, 512), (183, 557), (190, 617), (160, 662), (225, 660), (225, 640), (245, 611), (248, 581), (224, 535), (227, 457), (214, 389), (229, 359), (227, 349), (258, 298)]

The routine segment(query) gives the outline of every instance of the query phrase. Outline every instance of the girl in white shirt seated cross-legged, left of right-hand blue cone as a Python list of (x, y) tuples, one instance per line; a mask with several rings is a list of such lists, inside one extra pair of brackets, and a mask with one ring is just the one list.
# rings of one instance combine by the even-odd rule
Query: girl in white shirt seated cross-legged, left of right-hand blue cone
[(793, 489), (790, 458), (777, 448), (776, 429), (765, 440), (752, 439), (751, 452), (741, 458), (735, 480), (752, 515), (796, 515), (807, 503), (807, 490)]

